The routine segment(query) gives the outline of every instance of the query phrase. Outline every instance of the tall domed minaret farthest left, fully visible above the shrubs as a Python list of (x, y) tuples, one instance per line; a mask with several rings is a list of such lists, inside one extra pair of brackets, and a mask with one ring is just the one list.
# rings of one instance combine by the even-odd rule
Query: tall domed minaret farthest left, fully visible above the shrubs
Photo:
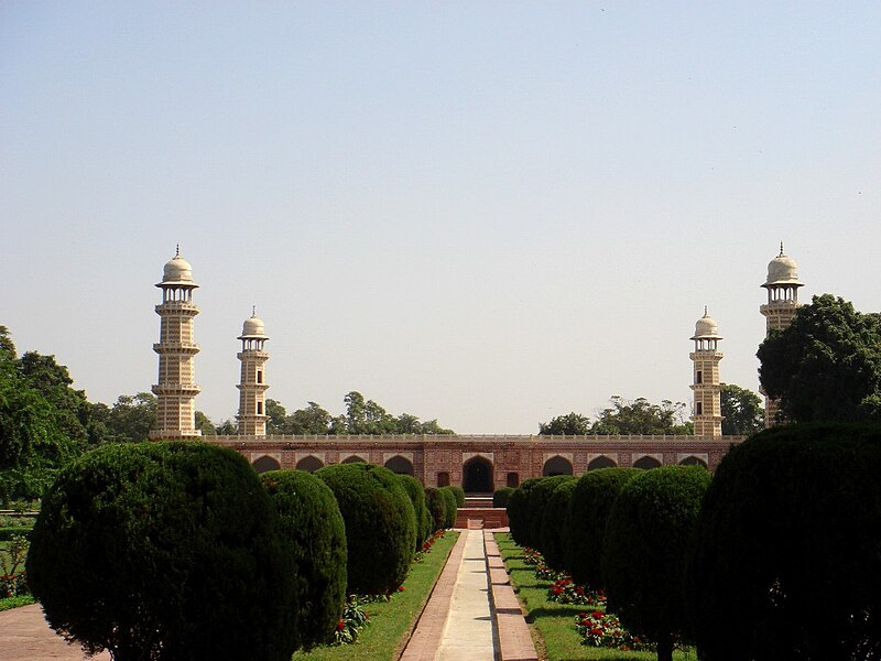
[(156, 286), (162, 290), (162, 303), (156, 305), (160, 337), (153, 345), (159, 354), (159, 383), (153, 386), (159, 405), (150, 438), (197, 438), (202, 436), (195, 420), (199, 387), (193, 380), (193, 359), (199, 346), (193, 343), (193, 319), (199, 308), (193, 303), (193, 290), (198, 285), (180, 247)]

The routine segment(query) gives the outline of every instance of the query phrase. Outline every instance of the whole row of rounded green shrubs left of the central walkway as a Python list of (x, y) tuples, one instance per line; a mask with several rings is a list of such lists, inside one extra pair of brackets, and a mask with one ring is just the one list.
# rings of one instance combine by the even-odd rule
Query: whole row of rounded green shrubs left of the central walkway
[(396, 590), (429, 520), (422, 485), (379, 466), (258, 477), (204, 443), (106, 445), (50, 488), (26, 571), (89, 652), (286, 661), (331, 637), (346, 594)]

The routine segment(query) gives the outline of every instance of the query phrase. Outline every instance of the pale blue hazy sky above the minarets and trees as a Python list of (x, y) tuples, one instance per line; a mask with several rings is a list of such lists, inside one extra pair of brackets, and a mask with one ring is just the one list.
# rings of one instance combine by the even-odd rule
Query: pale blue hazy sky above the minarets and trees
[(156, 382), (192, 263), (196, 408), (358, 390), (459, 433), (690, 403), (704, 306), (758, 390), (780, 241), (881, 310), (881, 3), (0, 3), (0, 325), (91, 401)]

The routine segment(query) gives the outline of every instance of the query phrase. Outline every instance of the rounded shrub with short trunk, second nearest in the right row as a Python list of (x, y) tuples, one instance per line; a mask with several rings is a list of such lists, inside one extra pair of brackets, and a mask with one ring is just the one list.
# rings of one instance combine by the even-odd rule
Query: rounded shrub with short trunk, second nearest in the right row
[(609, 516), (602, 554), (608, 607), (629, 630), (657, 643), (659, 661), (671, 659), (674, 642), (689, 635), (685, 559), (710, 479), (700, 466), (642, 472), (624, 483)]

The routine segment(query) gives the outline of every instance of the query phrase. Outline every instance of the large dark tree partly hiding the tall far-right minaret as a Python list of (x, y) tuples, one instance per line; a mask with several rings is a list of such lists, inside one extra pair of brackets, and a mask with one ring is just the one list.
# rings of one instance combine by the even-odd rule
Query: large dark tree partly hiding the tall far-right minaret
[(881, 317), (823, 294), (759, 346), (759, 378), (792, 422), (881, 422)]

